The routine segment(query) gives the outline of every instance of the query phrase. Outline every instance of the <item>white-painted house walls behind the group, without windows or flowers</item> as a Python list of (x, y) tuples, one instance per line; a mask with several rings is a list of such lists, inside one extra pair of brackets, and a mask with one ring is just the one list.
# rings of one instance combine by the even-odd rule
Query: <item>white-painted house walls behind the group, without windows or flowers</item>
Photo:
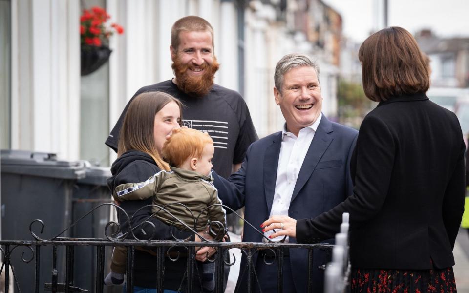
[[(171, 79), (171, 26), (186, 15), (213, 25), (221, 63), (215, 82), (238, 89), (238, 25), (235, 2), (220, 0), (107, 0), (111, 22), (125, 28), (110, 39), (109, 126), (115, 125), (140, 87)], [(80, 2), (12, 0), (12, 148), (79, 158)], [(259, 136), (281, 129), (273, 98), (274, 68), (285, 54), (315, 52), (302, 33), (292, 34), (276, 11), (260, 1), (245, 13), (245, 100)], [(327, 65), (327, 64), (326, 64)], [(324, 68), (320, 62), (320, 67)], [(326, 115), (337, 111), (336, 69), (322, 71)], [(109, 129), (110, 130), (110, 129)], [(92, 131), (92, 130), (90, 130)], [(103, 138), (103, 142), (106, 138)], [(111, 162), (115, 159), (113, 151)]]

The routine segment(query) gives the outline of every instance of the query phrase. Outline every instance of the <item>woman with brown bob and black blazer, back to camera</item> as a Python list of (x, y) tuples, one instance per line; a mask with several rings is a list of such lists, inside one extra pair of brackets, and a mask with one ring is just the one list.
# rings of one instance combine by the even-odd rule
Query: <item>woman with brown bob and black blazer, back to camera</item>
[(425, 95), (428, 68), (405, 29), (371, 35), (359, 59), (365, 94), (379, 105), (360, 127), (353, 194), (314, 219), (273, 216), (265, 230), (319, 242), (349, 212), (352, 292), (456, 292), (452, 249), (465, 196), (458, 119)]

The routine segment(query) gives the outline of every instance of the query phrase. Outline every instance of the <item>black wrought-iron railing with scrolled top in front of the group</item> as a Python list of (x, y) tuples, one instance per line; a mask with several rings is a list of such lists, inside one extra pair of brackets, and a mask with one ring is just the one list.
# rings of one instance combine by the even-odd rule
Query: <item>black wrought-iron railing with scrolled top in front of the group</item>
[[(178, 204), (180, 205), (180, 204)], [(138, 247), (145, 247), (146, 249), (152, 249), (156, 251), (157, 263), (155, 264), (157, 268), (157, 284), (158, 292), (163, 292), (164, 288), (164, 265), (165, 262), (174, 262), (180, 259), (180, 251), (187, 252), (187, 266), (186, 272), (184, 273), (184, 278), (181, 280), (180, 291), (184, 293), (191, 293), (193, 291), (198, 291), (200, 288), (194, 288), (195, 284), (200, 284), (201, 287), (201, 273), (198, 272), (195, 260), (195, 250), (196, 247), (211, 246), (216, 248), (217, 253), (213, 256), (208, 257), (209, 262), (215, 263), (215, 292), (223, 292), (223, 280), (224, 280), (224, 267), (232, 266), (236, 261), (235, 255), (233, 260), (230, 260), (228, 256), (230, 250), (239, 250), (242, 255), (246, 257), (246, 266), (240, 269), (240, 274), (245, 274), (247, 277), (247, 292), (253, 292), (254, 289), (258, 288), (256, 270), (254, 268), (253, 260), (257, 258), (257, 261), (263, 261), (266, 265), (277, 265), (277, 276), (273, 276), (273, 280), (277, 279), (277, 289), (278, 292), (282, 292), (283, 282), (282, 282), (282, 271), (285, 251), (290, 249), (306, 249), (308, 251), (308, 288), (305, 288), (305, 292), (313, 292), (313, 284), (311, 275), (314, 270), (325, 269), (325, 267), (320, 266), (319, 268), (313, 267), (313, 251), (323, 250), (327, 252), (328, 259), (332, 258), (333, 245), (330, 244), (297, 244), (297, 243), (282, 243), (282, 242), (273, 242), (270, 239), (266, 238), (266, 243), (233, 243), (233, 242), (213, 242), (208, 239), (205, 239), (203, 233), (197, 233), (194, 229), (196, 227), (197, 218), (194, 218), (194, 227), (189, 227), (189, 225), (179, 221), (176, 217), (172, 216), (165, 207), (159, 208), (158, 212), (166, 212), (170, 214), (174, 221), (178, 221), (186, 227), (186, 230), (192, 231), (192, 233), (197, 233), (197, 235), (202, 239), (202, 242), (191, 242), (186, 240), (179, 240), (174, 235), (174, 240), (172, 241), (162, 241), (162, 240), (140, 240), (135, 237), (133, 230), (141, 227), (141, 225), (152, 225), (151, 222), (143, 221), (135, 225), (135, 227), (130, 227), (128, 231), (122, 233), (120, 231), (120, 225), (115, 222), (108, 222), (105, 228), (106, 238), (102, 239), (90, 239), (90, 238), (70, 238), (70, 237), (61, 237), (65, 231), (72, 228), (80, 220), (89, 216), (93, 213), (94, 210), (99, 208), (104, 208), (103, 206), (114, 206), (116, 209), (121, 209), (118, 206), (113, 204), (102, 204), (92, 209), (86, 213), (83, 217), (77, 220), (75, 223), (70, 225), (67, 229), (60, 232), (57, 236), (52, 237), (51, 239), (42, 239), (38, 236), (43, 233), (45, 224), (41, 220), (34, 220), (29, 226), (29, 230), (34, 241), (0, 241), (0, 251), (3, 255), (3, 262), (0, 268), (0, 274), (5, 275), (5, 280), (9, 280), (10, 273), (13, 274), (13, 284), (9, 284), (8, 281), (5, 281), (4, 292), (9, 292), (10, 286), (15, 288), (15, 292), (21, 293), (30, 293), (30, 292), (96, 292), (104, 293), (104, 278), (106, 272), (108, 272), (108, 263), (110, 259), (111, 250), (115, 246), (124, 246), (127, 249), (127, 273), (126, 273), (126, 286), (127, 292), (132, 292), (134, 276), (133, 266), (134, 266), (134, 256), (135, 249)], [(155, 206), (156, 207), (156, 206)], [(223, 206), (224, 209), (228, 207)], [(121, 211), (123, 211), (121, 209)], [(128, 223), (132, 223), (132, 217), (129, 217), (125, 211), (123, 211), (126, 217), (128, 218)], [(145, 224), (146, 223), (146, 224)], [(212, 223), (210, 225), (215, 225), (219, 228), (221, 223)], [(252, 227), (250, 223), (246, 223), (245, 227)], [(37, 228), (40, 227), (40, 231), (37, 231)], [(117, 231), (113, 231), (117, 229)], [(35, 232), (36, 230), (36, 232)], [(261, 232), (259, 232), (261, 233)], [(262, 233), (261, 233), (262, 234)], [(155, 238), (155, 235), (152, 235)], [(264, 235), (262, 234), (264, 237)], [(88, 268), (77, 267), (77, 262), (83, 258), (83, 253), (78, 253), (78, 250), (81, 250), (83, 247), (88, 247), (92, 250), (92, 266)], [(21, 251), (21, 253), (20, 253)], [(270, 257), (258, 259), (257, 252), (259, 251), (269, 251)], [(19, 255), (18, 255), (19, 253)], [(78, 255), (80, 254), (80, 255)], [(185, 254), (185, 253), (184, 253)], [(342, 251), (340, 257), (346, 259), (347, 252)], [(89, 257), (89, 256), (85, 256)], [(337, 255), (335, 255), (337, 257)], [(44, 265), (43, 263), (47, 264)], [(342, 273), (340, 275), (334, 275), (333, 277), (337, 279), (337, 283), (344, 284), (340, 287), (340, 291), (346, 290), (346, 281), (344, 282), (344, 276), (347, 278), (348, 273), (343, 268), (347, 268), (348, 259), (344, 260), (341, 263)], [(11, 271), (10, 271), (11, 270)], [(21, 270), (21, 272), (20, 272)], [(29, 272), (27, 277), (19, 277), (18, 275), (25, 275), (24, 272)], [(74, 281), (75, 276), (78, 272), (84, 272), (89, 275), (93, 275), (93, 280), (88, 284), (80, 284), (80, 287)], [(27, 274), (27, 273), (26, 273)], [(327, 271), (326, 271), (327, 274)], [(32, 277), (34, 275), (34, 278)], [(198, 280), (197, 280), (198, 278)], [(27, 280), (26, 280), (27, 279)], [(330, 281), (330, 280), (329, 280)], [(184, 284), (184, 285), (183, 285)], [(327, 284), (326, 284), (327, 285)], [(197, 286), (198, 287), (198, 286)], [(339, 287), (338, 287), (339, 288)], [(334, 290), (337, 288), (334, 288)], [(338, 289), (339, 290), (339, 289)], [(106, 291), (108, 292), (108, 291)], [(338, 292), (329, 291), (329, 292)]]

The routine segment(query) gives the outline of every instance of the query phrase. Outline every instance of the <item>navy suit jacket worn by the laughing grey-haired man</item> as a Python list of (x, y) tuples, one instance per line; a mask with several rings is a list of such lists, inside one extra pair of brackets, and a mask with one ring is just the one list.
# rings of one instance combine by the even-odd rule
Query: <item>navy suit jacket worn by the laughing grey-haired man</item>
[[(357, 130), (331, 122), (322, 115), (298, 174), (288, 211), (290, 217), (314, 218), (352, 194), (349, 165), (357, 135)], [(213, 175), (213, 183), (223, 204), (234, 210), (245, 207), (245, 220), (258, 231), (262, 230), (259, 225), (269, 218), (272, 208), (281, 142), (282, 132), (264, 137), (251, 144), (241, 168), (228, 180)], [(244, 224), (243, 242), (261, 242), (262, 235), (256, 230)], [(289, 241), (296, 242), (296, 239), (290, 238)], [(298, 292), (304, 292), (307, 288), (307, 261), (306, 250), (290, 250), (293, 279)], [(314, 292), (322, 292), (323, 271), (318, 266), (325, 264), (325, 261), (324, 251), (315, 250)], [(241, 268), (245, 266), (243, 254)]]

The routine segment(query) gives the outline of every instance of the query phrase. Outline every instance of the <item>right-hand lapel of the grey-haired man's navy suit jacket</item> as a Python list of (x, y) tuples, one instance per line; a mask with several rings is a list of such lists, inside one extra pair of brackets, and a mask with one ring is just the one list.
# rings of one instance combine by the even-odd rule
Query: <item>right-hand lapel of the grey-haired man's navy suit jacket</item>
[(299, 170), (297, 183), (293, 189), (292, 200), (290, 202), (297, 197), (298, 192), (311, 177), (322, 155), (331, 144), (333, 140), (331, 135), (332, 131), (332, 123), (323, 114), (308, 152), (306, 153), (306, 157), (304, 158), (303, 165), (301, 165), (301, 169)]

